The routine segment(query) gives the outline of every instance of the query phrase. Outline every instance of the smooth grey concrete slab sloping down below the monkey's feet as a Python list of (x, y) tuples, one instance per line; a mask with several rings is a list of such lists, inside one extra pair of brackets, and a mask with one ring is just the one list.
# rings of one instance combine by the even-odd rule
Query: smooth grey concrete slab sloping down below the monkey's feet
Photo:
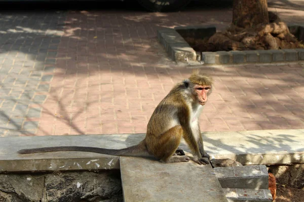
[(227, 201), (210, 164), (163, 164), (136, 157), (121, 157), (120, 164), (125, 202)]

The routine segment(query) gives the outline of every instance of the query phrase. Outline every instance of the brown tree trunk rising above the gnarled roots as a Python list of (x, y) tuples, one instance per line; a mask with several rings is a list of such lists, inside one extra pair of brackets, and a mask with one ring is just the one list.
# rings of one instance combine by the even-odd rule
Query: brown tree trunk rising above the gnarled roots
[(232, 22), (243, 28), (254, 28), (260, 23), (268, 24), (267, 0), (234, 0)]

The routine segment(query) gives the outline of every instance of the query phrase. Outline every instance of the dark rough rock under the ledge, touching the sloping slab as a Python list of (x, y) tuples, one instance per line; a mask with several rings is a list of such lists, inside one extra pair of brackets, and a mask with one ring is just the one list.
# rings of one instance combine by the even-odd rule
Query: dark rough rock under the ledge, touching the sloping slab
[(49, 202), (123, 201), (119, 173), (64, 172), (46, 175)]

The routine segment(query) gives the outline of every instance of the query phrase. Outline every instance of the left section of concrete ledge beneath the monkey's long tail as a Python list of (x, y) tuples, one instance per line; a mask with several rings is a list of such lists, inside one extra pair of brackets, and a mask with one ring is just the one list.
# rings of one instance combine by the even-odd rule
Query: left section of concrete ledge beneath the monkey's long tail
[[(60, 145), (125, 147), (126, 144), (120, 141), (120, 137), (109, 135), (2, 137), (0, 139), (0, 172), (119, 169), (119, 157), (115, 156), (78, 151), (19, 155), (17, 151), (23, 148)], [(129, 143), (132, 144), (132, 140)]]

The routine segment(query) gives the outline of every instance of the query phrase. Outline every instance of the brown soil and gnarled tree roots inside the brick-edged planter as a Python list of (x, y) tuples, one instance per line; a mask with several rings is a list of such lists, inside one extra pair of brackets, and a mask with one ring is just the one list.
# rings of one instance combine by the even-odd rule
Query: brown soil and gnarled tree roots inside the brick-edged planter
[(302, 41), (290, 33), (276, 14), (269, 12), (269, 19), (270, 24), (259, 24), (254, 28), (231, 25), (211, 37), (184, 36), (184, 39), (197, 52), (304, 48)]

